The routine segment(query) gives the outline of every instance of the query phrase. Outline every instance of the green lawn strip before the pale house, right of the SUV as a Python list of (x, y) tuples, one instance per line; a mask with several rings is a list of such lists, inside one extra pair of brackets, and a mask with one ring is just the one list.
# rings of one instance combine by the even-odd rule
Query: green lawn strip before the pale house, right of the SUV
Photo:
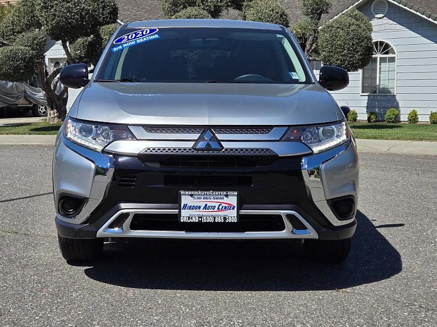
[(357, 139), (437, 141), (437, 125), (349, 123)]

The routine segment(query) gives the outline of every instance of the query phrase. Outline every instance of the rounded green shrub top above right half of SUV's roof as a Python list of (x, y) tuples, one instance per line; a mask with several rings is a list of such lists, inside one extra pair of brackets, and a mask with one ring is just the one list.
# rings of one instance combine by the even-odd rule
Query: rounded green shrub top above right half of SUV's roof
[(288, 14), (277, 0), (253, 0), (243, 13), (246, 20), (280, 24), (288, 27)]

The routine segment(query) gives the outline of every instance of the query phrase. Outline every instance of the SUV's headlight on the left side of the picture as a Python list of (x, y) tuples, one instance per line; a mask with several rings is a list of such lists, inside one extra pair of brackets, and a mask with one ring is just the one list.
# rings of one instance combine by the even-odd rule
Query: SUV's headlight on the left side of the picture
[(135, 140), (127, 126), (81, 123), (68, 118), (64, 135), (67, 140), (95, 151), (101, 151), (114, 140)]

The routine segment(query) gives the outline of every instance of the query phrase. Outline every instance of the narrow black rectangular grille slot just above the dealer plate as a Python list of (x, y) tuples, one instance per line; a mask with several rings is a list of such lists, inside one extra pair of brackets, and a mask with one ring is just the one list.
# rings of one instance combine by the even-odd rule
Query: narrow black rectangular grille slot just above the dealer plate
[(165, 175), (165, 186), (252, 186), (251, 176)]

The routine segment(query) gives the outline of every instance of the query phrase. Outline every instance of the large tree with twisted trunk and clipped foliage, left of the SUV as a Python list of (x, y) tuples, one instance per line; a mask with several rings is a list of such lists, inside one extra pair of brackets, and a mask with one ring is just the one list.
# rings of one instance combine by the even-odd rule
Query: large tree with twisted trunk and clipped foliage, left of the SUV
[[(0, 23), (0, 79), (23, 82), (37, 75), (48, 120), (62, 120), (68, 89), (59, 84), (59, 72), (77, 61), (97, 62), (117, 15), (115, 0), (19, 0)], [(112, 25), (104, 29), (106, 24)], [(61, 41), (66, 53), (66, 62), (51, 73), (44, 60), (49, 39)]]

